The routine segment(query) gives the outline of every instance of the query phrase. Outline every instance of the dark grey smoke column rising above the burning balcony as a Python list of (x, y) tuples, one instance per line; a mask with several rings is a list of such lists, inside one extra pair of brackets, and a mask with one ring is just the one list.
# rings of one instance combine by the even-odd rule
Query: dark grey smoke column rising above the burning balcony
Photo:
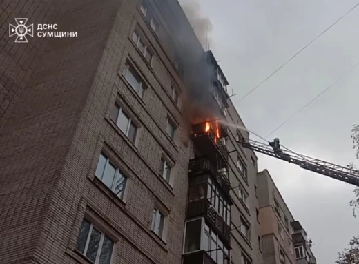
[(188, 23), (178, 23), (176, 28), (179, 59), (184, 68), (184, 80), (190, 88), (188, 101), (184, 102), (184, 111), (192, 123), (198, 123), (220, 115), (210, 90), (216, 77), (215, 68), (206, 61), (204, 52), (206, 41), (210, 41), (212, 24), (209, 19), (202, 17), (197, 1), (185, 0), (181, 4), (193, 27)]

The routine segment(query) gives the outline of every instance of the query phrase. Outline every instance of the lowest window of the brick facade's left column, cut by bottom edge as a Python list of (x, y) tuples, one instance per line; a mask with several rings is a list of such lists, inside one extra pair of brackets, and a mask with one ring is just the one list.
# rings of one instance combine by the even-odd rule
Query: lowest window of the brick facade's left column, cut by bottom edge
[(110, 264), (114, 242), (84, 219), (77, 237), (76, 250), (95, 264)]

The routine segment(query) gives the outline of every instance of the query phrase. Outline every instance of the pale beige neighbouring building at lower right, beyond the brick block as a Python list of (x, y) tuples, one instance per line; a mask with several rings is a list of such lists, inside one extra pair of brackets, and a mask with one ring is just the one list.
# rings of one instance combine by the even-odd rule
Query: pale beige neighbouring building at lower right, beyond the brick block
[[(309, 252), (311, 258), (315, 259), (308, 246), (307, 236), (304, 236), (300, 223), (293, 218), (268, 170), (258, 172), (257, 178), (264, 263), (316, 264), (302, 262), (304, 256), (309, 256)], [(302, 247), (298, 248), (299, 245)], [(304, 249), (307, 249), (308, 254)]]

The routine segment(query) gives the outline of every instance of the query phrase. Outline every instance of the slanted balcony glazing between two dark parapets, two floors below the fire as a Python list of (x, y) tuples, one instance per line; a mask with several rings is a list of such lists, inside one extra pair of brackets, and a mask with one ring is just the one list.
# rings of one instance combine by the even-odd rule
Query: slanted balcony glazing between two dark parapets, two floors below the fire
[(231, 223), (231, 206), (224, 199), (220, 188), (218, 188), (211, 179), (208, 179), (207, 199), (215, 209), (215, 211), (222, 216), (222, 219), (230, 225)]

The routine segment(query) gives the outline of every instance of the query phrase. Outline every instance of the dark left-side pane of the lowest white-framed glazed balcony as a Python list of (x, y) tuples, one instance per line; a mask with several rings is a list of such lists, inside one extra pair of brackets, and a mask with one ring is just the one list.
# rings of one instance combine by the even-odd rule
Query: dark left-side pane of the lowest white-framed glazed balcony
[(186, 241), (184, 242), (185, 253), (200, 250), (201, 224), (201, 219), (186, 223)]

